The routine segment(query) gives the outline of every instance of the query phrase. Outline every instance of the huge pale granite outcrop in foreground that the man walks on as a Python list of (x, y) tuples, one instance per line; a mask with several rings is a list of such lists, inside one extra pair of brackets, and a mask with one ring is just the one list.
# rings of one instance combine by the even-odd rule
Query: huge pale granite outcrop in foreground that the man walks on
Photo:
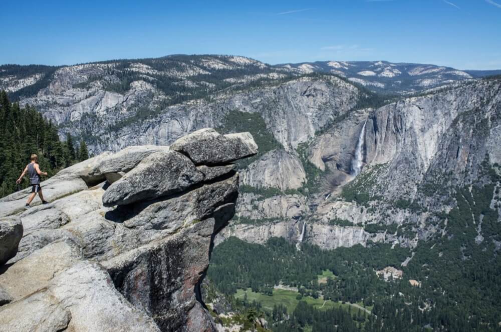
[(27, 192), (3, 198), (4, 213), (25, 233), (0, 268), (0, 331), (215, 330), (200, 283), (213, 238), (234, 214), (238, 173), (216, 159), (197, 167), (166, 147), (129, 152), (104, 153), (45, 181), (48, 205), (20, 213)]

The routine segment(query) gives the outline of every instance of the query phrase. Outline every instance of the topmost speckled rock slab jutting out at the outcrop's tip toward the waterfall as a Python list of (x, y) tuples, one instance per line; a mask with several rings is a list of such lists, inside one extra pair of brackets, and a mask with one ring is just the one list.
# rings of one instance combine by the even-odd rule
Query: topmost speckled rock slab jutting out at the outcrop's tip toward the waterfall
[(221, 135), (212, 128), (183, 136), (170, 149), (183, 153), (197, 165), (224, 164), (258, 153), (258, 145), (249, 132)]

